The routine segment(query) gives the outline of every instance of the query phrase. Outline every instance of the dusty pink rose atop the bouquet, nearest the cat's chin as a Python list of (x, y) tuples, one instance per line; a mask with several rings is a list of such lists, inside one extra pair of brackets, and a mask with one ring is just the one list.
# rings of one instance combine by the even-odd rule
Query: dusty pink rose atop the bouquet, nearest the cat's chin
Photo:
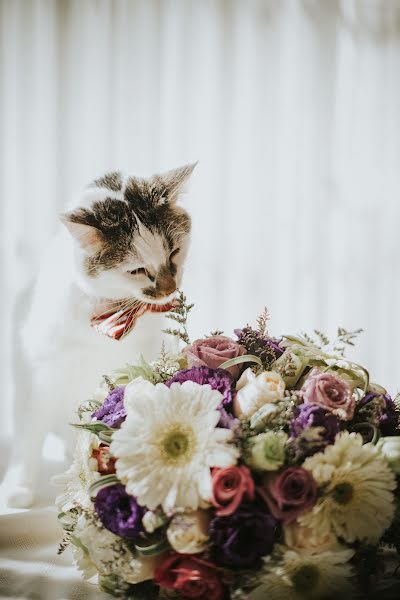
[[(246, 348), (224, 335), (214, 335), (204, 340), (196, 340), (184, 349), (189, 367), (210, 367), (218, 369), (227, 360), (246, 354)], [(242, 365), (229, 367), (232, 377), (239, 377)]]

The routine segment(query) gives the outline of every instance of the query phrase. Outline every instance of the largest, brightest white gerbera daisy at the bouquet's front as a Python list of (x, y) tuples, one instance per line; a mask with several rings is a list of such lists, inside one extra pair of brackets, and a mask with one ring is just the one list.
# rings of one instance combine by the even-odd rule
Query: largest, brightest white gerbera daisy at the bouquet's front
[(168, 388), (146, 381), (126, 389), (127, 418), (114, 433), (111, 451), (126, 491), (142, 506), (165, 512), (196, 510), (211, 496), (210, 467), (236, 463), (232, 432), (217, 427), (222, 395), (209, 385), (185, 381)]

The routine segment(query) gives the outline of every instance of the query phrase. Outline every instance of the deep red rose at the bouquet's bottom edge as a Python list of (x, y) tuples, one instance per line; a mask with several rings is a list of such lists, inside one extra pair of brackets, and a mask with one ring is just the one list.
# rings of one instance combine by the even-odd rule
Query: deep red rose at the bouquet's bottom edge
[(196, 600), (221, 600), (226, 591), (219, 569), (187, 554), (167, 558), (156, 570), (154, 583), (179, 592), (183, 598)]

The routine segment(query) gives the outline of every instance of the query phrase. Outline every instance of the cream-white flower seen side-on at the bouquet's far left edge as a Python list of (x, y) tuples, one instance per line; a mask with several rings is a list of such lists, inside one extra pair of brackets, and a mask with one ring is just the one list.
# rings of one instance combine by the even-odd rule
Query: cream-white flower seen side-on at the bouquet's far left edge
[(92, 451), (99, 447), (98, 437), (81, 429), (77, 435), (74, 460), (65, 473), (52, 478), (54, 485), (62, 485), (64, 491), (57, 496), (56, 505), (60, 512), (71, 508), (90, 509), (93, 505), (89, 488), (100, 477), (97, 461), (91, 458)]

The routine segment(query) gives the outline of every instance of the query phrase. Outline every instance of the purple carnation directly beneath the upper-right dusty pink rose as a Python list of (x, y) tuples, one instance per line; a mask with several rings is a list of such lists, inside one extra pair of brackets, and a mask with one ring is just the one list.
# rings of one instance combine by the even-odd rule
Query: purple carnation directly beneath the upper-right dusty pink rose
[(297, 438), (305, 429), (323, 427), (323, 443), (333, 444), (340, 431), (339, 421), (332, 413), (327, 413), (318, 404), (307, 403), (297, 407), (296, 418), (290, 424), (292, 438)]

